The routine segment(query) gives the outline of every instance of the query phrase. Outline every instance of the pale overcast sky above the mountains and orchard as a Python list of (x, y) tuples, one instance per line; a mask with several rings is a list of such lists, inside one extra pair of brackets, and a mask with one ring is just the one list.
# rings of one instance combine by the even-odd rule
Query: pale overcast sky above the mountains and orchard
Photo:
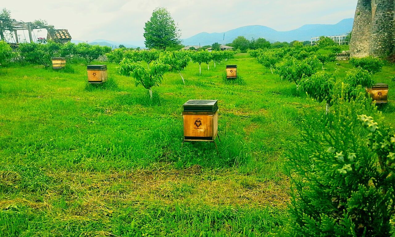
[[(248, 25), (286, 31), (304, 24), (336, 24), (354, 17), (356, 5), (357, 0), (19, 0), (3, 1), (0, 8), (18, 21), (45, 19), (55, 28), (68, 29), (73, 40), (142, 46), (144, 23), (159, 6), (179, 24), (181, 38), (188, 38)], [(46, 32), (35, 35), (45, 37)]]

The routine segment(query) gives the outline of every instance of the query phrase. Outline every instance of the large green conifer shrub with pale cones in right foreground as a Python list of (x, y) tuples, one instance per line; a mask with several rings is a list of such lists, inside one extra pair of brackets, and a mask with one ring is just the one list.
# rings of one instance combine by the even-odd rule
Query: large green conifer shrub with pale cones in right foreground
[[(367, 99), (312, 111), (288, 154), (290, 219), (277, 236), (390, 236), (395, 137)], [(370, 115), (372, 117), (368, 117)]]

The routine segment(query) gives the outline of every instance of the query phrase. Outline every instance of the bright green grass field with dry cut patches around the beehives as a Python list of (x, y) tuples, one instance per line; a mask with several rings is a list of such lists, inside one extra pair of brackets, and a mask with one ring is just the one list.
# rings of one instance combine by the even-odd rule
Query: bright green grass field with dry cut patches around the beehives
[[(337, 65), (336, 63), (340, 64)], [(103, 64), (103, 62), (94, 62)], [(107, 64), (110, 81), (87, 85), (86, 65), (0, 68), (0, 237), (266, 236), (287, 217), (283, 174), (304, 111), (325, 110), (255, 58), (167, 73), (149, 100)], [(237, 64), (241, 79), (224, 79)], [(348, 62), (325, 65), (340, 75)], [(380, 107), (395, 124), (395, 66)], [(218, 100), (213, 143), (184, 143), (182, 104)]]

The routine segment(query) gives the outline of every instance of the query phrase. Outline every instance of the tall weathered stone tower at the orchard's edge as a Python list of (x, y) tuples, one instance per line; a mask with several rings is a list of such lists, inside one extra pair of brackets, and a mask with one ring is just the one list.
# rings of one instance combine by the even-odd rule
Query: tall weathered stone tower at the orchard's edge
[(350, 54), (384, 57), (395, 50), (395, 0), (358, 0)]

